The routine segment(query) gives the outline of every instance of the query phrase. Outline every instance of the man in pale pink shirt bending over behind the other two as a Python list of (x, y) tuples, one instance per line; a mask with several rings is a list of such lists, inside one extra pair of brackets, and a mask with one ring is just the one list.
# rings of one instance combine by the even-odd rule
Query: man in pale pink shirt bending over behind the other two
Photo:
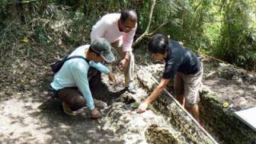
[(132, 94), (134, 87), (134, 54), (132, 43), (137, 29), (137, 14), (134, 10), (122, 10), (121, 14), (106, 14), (92, 28), (90, 42), (96, 38), (106, 38), (118, 52), (121, 61), (120, 70), (125, 74), (125, 86)]

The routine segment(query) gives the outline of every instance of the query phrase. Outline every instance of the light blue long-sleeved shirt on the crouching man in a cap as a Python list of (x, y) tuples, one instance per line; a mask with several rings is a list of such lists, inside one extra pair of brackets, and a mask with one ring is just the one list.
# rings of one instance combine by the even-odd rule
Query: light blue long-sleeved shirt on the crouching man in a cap
[[(86, 49), (89, 49), (89, 46), (90, 45), (79, 46), (70, 54), (70, 56), (80, 55), (86, 58), (85, 51)], [(96, 63), (94, 61), (90, 61), (88, 64), (88, 62), (82, 58), (73, 58), (66, 61), (61, 70), (54, 74), (54, 81), (50, 83), (50, 86), (52, 86), (54, 90), (60, 90), (65, 87), (78, 87), (83, 97), (86, 99), (86, 106), (88, 106), (90, 110), (93, 110), (94, 100), (90, 92), (87, 78), (87, 73), (90, 66), (96, 68), (104, 74), (109, 74), (110, 72), (110, 70), (100, 62)]]

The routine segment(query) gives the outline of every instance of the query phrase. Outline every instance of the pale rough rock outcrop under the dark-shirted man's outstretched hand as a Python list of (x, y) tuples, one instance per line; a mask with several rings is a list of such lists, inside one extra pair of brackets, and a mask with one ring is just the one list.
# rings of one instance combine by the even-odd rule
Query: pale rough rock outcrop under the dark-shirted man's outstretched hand
[[(104, 78), (103, 78), (104, 79)], [(137, 83), (137, 82), (136, 82)], [(103, 110), (102, 123), (103, 130), (114, 132), (115, 137), (123, 140), (124, 143), (169, 143), (166, 140), (161, 141), (166, 135), (174, 135), (176, 142), (190, 142), (182, 134), (177, 126), (171, 125), (168, 118), (162, 114), (155, 113), (154, 110), (147, 110), (143, 114), (137, 114), (136, 110), (127, 110), (126, 104), (130, 102), (141, 102), (148, 94), (140, 84), (136, 84), (137, 94), (124, 93), (116, 99), (108, 109)], [(154, 128), (150, 126), (159, 126), (158, 137), (151, 137), (155, 133)], [(165, 131), (167, 132), (165, 133)]]

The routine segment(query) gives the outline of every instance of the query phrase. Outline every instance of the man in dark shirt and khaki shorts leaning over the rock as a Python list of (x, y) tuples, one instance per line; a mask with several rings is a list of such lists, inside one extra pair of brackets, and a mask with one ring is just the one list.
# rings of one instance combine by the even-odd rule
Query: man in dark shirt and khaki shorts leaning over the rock
[(159, 85), (138, 107), (138, 113), (144, 112), (148, 104), (153, 102), (170, 82), (170, 78), (174, 78), (174, 94), (178, 102), (185, 106), (186, 110), (199, 122), (198, 90), (202, 85), (202, 62), (193, 52), (178, 42), (168, 41), (162, 34), (154, 35), (148, 45), (148, 50), (154, 58), (165, 60), (166, 68)]

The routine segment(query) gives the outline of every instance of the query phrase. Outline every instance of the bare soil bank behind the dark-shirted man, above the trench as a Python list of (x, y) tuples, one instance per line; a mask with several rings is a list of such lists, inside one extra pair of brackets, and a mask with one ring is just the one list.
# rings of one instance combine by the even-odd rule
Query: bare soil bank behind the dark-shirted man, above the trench
[[(214, 94), (219, 103), (228, 102), (231, 111), (245, 110), (256, 105), (256, 74), (211, 58), (204, 63), (203, 90)], [(158, 79), (164, 64), (145, 66)]]

